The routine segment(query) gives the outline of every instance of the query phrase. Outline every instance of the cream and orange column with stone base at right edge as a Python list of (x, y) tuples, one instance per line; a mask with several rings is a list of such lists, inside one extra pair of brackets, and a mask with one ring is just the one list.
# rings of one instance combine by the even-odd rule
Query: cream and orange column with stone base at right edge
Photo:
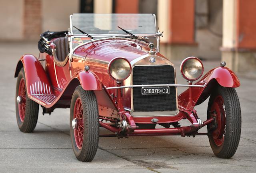
[(240, 73), (256, 73), (256, 1), (223, 1), (222, 60)]

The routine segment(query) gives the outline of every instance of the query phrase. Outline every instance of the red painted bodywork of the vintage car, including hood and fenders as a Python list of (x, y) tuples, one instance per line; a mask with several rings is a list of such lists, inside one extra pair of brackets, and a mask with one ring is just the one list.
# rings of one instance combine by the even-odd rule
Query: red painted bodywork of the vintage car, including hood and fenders
[[(54, 40), (54, 39), (53, 39)], [(53, 41), (52, 40), (52, 41)], [(198, 116), (194, 106), (202, 103), (211, 94), (216, 85), (224, 87), (238, 87), (240, 82), (236, 75), (226, 67), (212, 69), (196, 85), (204, 87), (189, 87), (178, 96), (179, 112), (173, 116), (157, 116), (158, 124), (178, 122), (188, 119), (192, 125), (187, 127), (163, 129), (138, 129), (136, 124), (153, 124), (152, 116), (133, 117), (131, 108), (130, 89), (110, 89), (107, 87), (120, 86), (108, 74), (108, 63), (115, 57), (125, 57), (131, 64), (148, 55), (148, 45), (134, 39), (101, 39), (91, 41), (74, 50), (76, 55), (86, 57), (85, 61), (73, 58), (66, 65), (60, 67), (54, 63), (54, 57), (47, 53), (40, 53), (40, 60), (45, 61), (43, 67), (33, 55), (24, 55), (16, 67), (15, 77), (23, 67), (26, 75), (26, 89), (28, 97), (50, 113), (54, 108), (69, 108), (70, 100), (76, 86), (81, 85), (84, 90), (93, 90), (98, 101), (100, 126), (116, 133), (102, 136), (145, 136), (145, 135), (200, 135), (198, 129), (212, 122), (212, 118), (198, 124)], [(160, 53), (156, 54), (162, 57)], [(165, 61), (168, 61), (167, 59)], [(88, 65), (89, 71), (84, 67)], [(122, 82), (125, 85), (125, 81)], [(110, 94), (114, 96), (110, 96)], [(124, 108), (128, 108), (125, 109)], [(50, 109), (50, 111), (47, 109)], [(126, 120), (128, 126), (122, 130), (115, 126)]]

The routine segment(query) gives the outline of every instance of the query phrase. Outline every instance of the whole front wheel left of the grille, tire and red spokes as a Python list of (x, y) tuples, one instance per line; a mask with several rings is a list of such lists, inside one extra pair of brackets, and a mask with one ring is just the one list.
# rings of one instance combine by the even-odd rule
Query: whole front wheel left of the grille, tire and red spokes
[(96, 96), (79, 85), (70, 104), (70, 136), (78, 160), (92, 161), (98, 148), (99, 130)]

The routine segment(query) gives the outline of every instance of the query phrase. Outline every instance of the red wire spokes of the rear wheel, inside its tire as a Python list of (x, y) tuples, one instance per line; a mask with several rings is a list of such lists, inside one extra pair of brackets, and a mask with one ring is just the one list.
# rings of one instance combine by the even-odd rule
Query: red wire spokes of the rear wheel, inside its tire
[(19, 92), (18, 95), (20, 96), (20, 104), (18, 104), (19, 107), (19, 114), (20, 114), (20, 121), (24, 122), (25, 118), (25, 111), (26, 111), (26, 86), (25, 86), (25, 80), (22, 78), (20, 80), (19, 85)]

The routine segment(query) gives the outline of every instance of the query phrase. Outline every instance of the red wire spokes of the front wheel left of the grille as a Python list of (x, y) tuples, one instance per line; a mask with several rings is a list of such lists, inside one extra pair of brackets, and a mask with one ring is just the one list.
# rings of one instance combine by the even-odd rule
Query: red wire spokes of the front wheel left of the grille
[(74, 136), (76, 141), (76, 146), (78, 149), (82, 148), (82, 144), (84, 141), (84, 114), (83, 114), (83, 106), (80, 98), (76, 99), (75, 107), (74, 107), (74, 119), (76, 118), (76, 128), (74, 129)]

